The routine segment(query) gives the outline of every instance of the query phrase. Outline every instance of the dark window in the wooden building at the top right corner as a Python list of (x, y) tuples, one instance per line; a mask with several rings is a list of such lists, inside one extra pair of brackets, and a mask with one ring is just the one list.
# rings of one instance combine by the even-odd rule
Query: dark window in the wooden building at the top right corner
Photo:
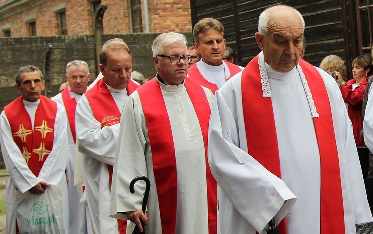
[(358, 22), (359, 49), (371, 53), (373, 47), (373, 0), (355, 0)]

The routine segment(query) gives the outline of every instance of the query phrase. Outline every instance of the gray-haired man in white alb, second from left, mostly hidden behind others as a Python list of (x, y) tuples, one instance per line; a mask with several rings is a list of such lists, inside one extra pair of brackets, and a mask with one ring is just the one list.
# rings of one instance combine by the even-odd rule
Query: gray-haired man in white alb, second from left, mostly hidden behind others
[(75, 165), (75, 109), (82, 94), (86, 92), (90, 73), (88, 64), (82, 60), (73, 60), (66, 65), (66, 80), (68, 86), (52, 98), (66, 109), (69, 141), (69, 159), (66, 167), (69, 191), (70, 233), (87, 233), (86, 211), (84, 204), (80, 203), (83, 195), (83, 187), (74, 185)]

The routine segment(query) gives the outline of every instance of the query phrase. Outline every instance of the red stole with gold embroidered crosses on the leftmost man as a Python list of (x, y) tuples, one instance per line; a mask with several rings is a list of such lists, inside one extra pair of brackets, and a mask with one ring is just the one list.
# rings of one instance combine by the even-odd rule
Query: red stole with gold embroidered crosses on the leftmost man
[(28, 167), (37, 177), (53, 148), (57, 103), (40, 95), (33, 132), (31, 118), (24, 107), (22, 96), (4, 107), (4, 111), (14, 142), (21, 150)]

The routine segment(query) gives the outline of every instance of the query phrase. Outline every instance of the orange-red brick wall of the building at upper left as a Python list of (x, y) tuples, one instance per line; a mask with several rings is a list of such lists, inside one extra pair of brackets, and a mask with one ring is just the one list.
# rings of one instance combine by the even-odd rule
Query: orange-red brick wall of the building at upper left
[[(11, 24), (12, 37), (29, 36), (25, 22), (30, 15), (36, 16), (37, 36), (59, 35), (58, 15), (55, 8), (66, 4), (68, 35), (93, 35), (93, 5), (86, 0), (49, 0), (21, 13), (0, 20), (0, 29)], [(104, 34), (131, 33), (130, 5), (128, 0), (102, 0), (107, 5), (103, 17)], [(142, 23), (145, 32), (145, 12), (142, 0)], [(189, 0), (148, 0), (150, 32), (191, 31)], [(0, 37), (3, 37), (0, 31)]]

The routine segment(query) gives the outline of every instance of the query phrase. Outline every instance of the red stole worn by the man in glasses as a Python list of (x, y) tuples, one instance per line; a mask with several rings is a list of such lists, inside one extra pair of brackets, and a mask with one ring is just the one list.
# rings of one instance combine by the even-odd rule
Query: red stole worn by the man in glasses
[[(186, 77), (184, 86), (196, 111), (205, 145), (209, 234), (216, 234), (216, 181), (207, 160), (208, 123), (211, 109), (203, 88)], [(177, 172), (172, 129), (162, 91), (156, 78), (137, 90), (144, 111), (152, 149), (153, 171), (157, 186), (163, 234), (175, 234)]]

